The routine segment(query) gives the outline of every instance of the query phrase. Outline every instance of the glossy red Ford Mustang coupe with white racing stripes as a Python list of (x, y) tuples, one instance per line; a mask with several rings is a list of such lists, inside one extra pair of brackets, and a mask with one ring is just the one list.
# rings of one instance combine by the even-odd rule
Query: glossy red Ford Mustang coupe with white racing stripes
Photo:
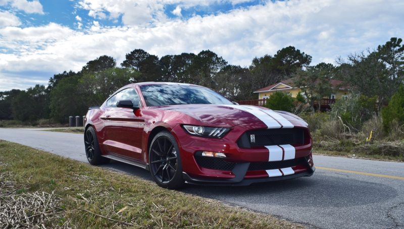
[(311, 176), (307, 123), (289, 112), (238, 105), (197, 85), (129, 84), (85, 117), (90, 164), (110, 159), (150, 171), (161, 187), (249, 185)]

